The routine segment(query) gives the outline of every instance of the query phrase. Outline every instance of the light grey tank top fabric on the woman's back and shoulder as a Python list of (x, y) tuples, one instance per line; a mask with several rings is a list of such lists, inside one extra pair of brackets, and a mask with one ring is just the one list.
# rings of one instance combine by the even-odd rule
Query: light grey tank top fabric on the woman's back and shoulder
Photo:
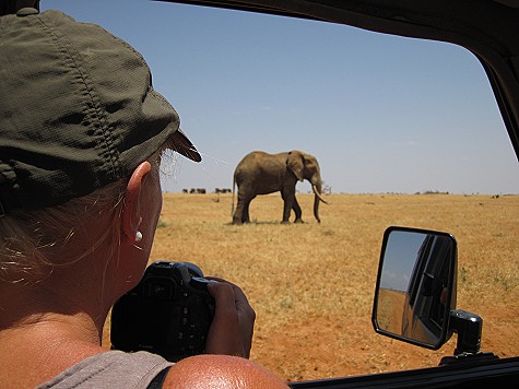
[(144, 351), (108, 351), (81, 361), (38, 389), (146, 388), (158, 373), (172, 365), (162, 356)]

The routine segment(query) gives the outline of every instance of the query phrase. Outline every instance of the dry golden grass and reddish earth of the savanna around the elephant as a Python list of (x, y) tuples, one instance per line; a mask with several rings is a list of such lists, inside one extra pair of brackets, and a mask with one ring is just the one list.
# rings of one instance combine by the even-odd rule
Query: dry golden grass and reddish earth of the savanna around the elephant
[[(165, 193), (151, 261), (199, 264), (239, 284), (257, 313), (251, 359), (287, 381), (437, 366), (429, 351), (376, 334), (370, 321), (384, 231), (404, 225), (458, 240), (458, 305), (481, 316), (482, 351), (519, 355), (519, 196), (331, 194), (318, 224), (282, 225), (282, 200), (251, 203), (232, 225), (232, 194)], [(105, 344), (108, 346), (108, 331)]]

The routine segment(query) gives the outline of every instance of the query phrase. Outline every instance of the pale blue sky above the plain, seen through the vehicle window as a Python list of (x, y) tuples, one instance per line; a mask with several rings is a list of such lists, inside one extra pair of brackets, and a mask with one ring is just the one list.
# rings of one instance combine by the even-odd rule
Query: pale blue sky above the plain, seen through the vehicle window
[(460, 47), (157, 1), (42, 0), (46, 9), (143, 54), (203, 155), (172, 161), (167, 191), (231, 188), (248, 152), (297, 149), (335, 193), (519, 193), (486, 75)]

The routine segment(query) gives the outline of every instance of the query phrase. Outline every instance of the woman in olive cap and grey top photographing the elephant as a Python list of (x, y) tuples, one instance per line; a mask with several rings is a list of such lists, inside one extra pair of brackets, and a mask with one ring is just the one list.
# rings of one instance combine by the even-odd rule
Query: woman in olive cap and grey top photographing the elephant
[(278, 388), (248, 359), (255, 311), (224, 280), (207, 353), (173, 364), (102, 346), (139, 283), (163, 153), (201, 161), (142, 56), (59, 11), (0, 17), (0, 386)]

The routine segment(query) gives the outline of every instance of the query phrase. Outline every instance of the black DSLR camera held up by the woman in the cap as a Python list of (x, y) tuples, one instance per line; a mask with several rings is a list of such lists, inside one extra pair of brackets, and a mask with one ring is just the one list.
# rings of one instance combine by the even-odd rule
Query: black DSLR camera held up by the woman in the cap
[(149, 351), (170, 362), (203, 354), (214, 299), (199, 267), (156, 261), (111, 309), (111, 347)]

